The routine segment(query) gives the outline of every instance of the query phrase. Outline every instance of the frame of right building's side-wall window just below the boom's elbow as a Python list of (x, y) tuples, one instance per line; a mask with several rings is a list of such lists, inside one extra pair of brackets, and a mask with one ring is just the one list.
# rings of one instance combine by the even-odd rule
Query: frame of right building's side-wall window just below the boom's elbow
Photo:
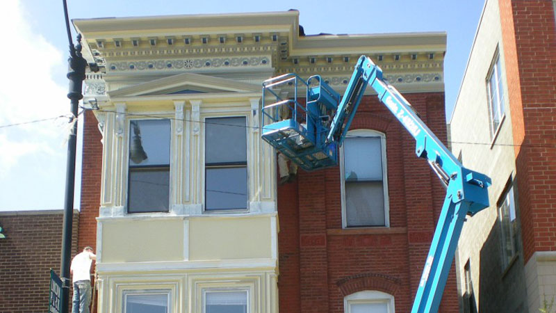
[[(508, 209), (508, 216), (510, 218), (510, 220), (507, 221), (507, 223), (509, 223), (509, 238), (507, 238), (505, 236), (505, 225), (504, 225), (504, 220), (502, 220), (503, 218), (505, 218), (504, 214), (502, 214), (502, 209), (504, 207), (507, 207)], [(514, 210), (514, 219), (512, 220), (512, 208)], [(512, 223), (518, 223), (518, 218), (517, 218), (517, 207), (516, 207), (516, 198), (515, 198), (515, 194), (514, 194), (514, 186), (512, 184), (512, 182), (508, 183), (508, 186), (506, 186), (506, 188), (504, 189), (504, 192), (502, 192), (502, 195), (500, 196), (500, 200), (498, 200), (498, 204), (497, 204), (497, 209), (498, 209), (498, 220), (500, 221), (500, 239), (502, 240), (502, 268), (504, 268), (504, 270), (506, 268), (508, 268), (509, 266), (512, 265), (514, 259), (517, 257), (518, 254), (518, 248), (517, 246), (517, 234), (514, 232), (514, 227), (512, 227)], [(517, 230), (517, 227), (516, 227)], [(512, 247), (512, 253), (511, 255), (507, 254), (507, 250), (506, 247), (508, 246), (508, 241), (509, 241), (509, 246)]]

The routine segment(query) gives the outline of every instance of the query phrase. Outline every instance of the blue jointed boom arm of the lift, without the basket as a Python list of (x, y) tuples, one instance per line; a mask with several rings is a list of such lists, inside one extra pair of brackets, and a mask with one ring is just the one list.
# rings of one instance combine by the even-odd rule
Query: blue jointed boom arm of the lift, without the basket
[(366, 56), (361, 56), (355, 65), (350, 83), (332, 120), (327, 142), (336, 141), (341, 145), (367, 85), (373, 87), (380, 101), (415, 138), (417, 157), (427, 159), (447, 189), (411, 310), (412, 313), (437, 312), (465, 217), (473, 216), (489, 206), (486, 188), (490, 186), (491, 179), (464, 168), (418, 118), (411, 104), (382, 79), (380, 67)]

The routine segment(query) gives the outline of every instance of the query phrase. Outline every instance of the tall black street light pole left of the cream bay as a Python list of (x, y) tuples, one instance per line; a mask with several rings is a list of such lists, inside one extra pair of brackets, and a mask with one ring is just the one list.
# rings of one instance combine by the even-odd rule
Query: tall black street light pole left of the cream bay
[(72, 129), (67, 141), (67, 165), (65, 176), (65, 204), (64, 219), (62, 230), (62, 254), (60, 262), (60, 275), (62, 276), (62, 305), (61, 312), (68, 313), (68, 301), (70, 300), (70, 262), (72, 258), (72, 223), (74, 213), (74, 187), (75, 187), (75, 152), (77, 143), (77, 106), (79, 100), (83, 98), (81, 88), (85, 79), (85, 67), (87, 61), (81, 55), (81, 35), (77, 36), (77, 45), (74, 47), (72, 42), (72, 33), (70, 31), (70, 19), (67, 16), (67, 3), (63, 0), (65, 23), (67, 29), (67, 39), (70, 42), (70, 58), (67, 62), (69, 72), (67, 78), (70, 79), (70, 92), (67, 97), (70, 98), (73, 123)]

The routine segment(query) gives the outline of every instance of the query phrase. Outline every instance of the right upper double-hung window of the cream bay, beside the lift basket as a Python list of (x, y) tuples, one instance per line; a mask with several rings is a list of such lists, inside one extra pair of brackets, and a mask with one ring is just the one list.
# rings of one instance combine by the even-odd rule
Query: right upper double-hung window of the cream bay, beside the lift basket
[(205, 120), (205, 210), (247, 209), (246, 118)]

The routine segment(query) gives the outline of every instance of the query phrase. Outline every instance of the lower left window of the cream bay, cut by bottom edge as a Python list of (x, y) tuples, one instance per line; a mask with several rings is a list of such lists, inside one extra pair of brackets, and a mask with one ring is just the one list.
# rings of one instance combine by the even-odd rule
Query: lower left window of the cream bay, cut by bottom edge
[(124, 291), (124, 313), (168, 313), (170, 290)]

